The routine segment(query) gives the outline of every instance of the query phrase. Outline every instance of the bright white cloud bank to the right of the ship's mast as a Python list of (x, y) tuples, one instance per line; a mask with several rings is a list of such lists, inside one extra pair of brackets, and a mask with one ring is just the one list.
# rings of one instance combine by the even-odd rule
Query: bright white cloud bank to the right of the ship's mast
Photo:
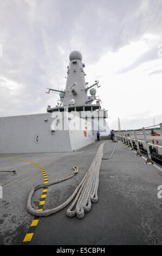
[[(118, 117), (121, 122), (122, 119), (124, 120), (125, 127), (122, 129), (133, 129), (129, 125), (135, 125), (137, 119), (141, 119), (142, 126), (143, 119), (151, 117), (153, 119), (155, 115), (161, 114), (161, 101), (158, 95), (162, 94), (162, 74), (154, 71), (154, 76), (148, 76), (151, 70), (159, 69), (161, 59), (142, 63), (129, 72), (120, 74), (117, 72), (121, 67), (131, 65), (134, 59), (147, 52), (147, 41), (144, 41), (144, 38), (146, 40), (147, 36), (120, 48), (118, 52), (109, 51), (98, 63), (86, 69), (89, 79), (92, 77), (98, 79), (100, 74), (99, 81), (102, 87), (98, 92), (103, 108), (108, 109), (108, 115), (111, 117), (110, 125), (116, 124), (115, 129), (118, 129)], [(130, 120), (134, 120), (134, 123), (129, 123)]]

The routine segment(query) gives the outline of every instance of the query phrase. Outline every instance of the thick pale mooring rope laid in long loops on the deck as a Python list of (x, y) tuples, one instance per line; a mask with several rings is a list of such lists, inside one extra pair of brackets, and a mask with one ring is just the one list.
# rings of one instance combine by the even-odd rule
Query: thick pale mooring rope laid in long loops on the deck
[(27, 200), (27, 210), (30, 212), (30, 214), (41, 217), (55, 214), (56, 212), (66, 207), (70, 202), (72, 202), (72, 200), (76, 196), (72, 205), (70, 205), (66, 213), (69, 217), (73, 217), (76, 215), (78, 218), (83, 218), (85, 216), (85, 212), (90, 211), (92, 202), (95, 203), (98, 201), (99, 172), (103, 157), (104, 144), (105, 143), (102, 143), (99, 146), (98, 151), (96, 152), (96, 155), (92, 163), (90, 164), (90, 167), (86, 175), (83, 177), (80, 184), (75, 188), (75, 191), (73, 192), (72, 196), (70, 196), (63, 204), (53, 209), (37, 211), (31, 207), (31, 198), (33, 197), (34, 192), (39, 188), (51, 186), (56, 183), (72, 178), (76, 173), (79, 172), (79, 168), (77, 166), (73, 167), (74, 172), (70, 173), (67, 176), (64, 176), (62, 179), (55, 180), (45, 185), (41, 184), (33, 187), (29, 193), (29, 197)]

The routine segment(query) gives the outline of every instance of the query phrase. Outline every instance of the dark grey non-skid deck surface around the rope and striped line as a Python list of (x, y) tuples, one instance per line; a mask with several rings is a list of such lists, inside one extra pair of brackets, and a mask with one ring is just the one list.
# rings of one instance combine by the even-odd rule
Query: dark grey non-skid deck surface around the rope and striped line
[[(72, 153), (12, 154), (40, 164), (48, 182), (72, 172), (72, 179), (48, 188), (44, 209), (64, 202), (80, 183), (103, 143), (93, 143)], [(115, 143), (105, 144), (104, 157), (111, 155)], [(162, 244), (162, 199), (157, 187), (162, 185), (159, 170), (144, 163), (141, 157), (120, 143), (111, 160), (103, 160), (100, 169), (98, 203), (92, 204), (85, 217), (69, 218), (66, 208), (49, 217), (41, 217), (30, 245), (159, 245)], [(18, 175), (1, 173), (3, 186), (1, 206), (1, 245), (22, 245), (34, 216), (26, 210), (33, 184), (42, 184), (43, 175), (34, 164), (18, 160), (1, 160), (0, 170), (16, 169)], [(32, 205), (40, 202), (42, 190), (34, 194)]]

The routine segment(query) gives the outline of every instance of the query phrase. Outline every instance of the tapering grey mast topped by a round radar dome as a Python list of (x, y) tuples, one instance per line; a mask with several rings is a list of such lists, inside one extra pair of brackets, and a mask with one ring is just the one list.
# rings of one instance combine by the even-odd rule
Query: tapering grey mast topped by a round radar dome
[[(85, 64), (82, 63), (82, 54), (79, 51), (72, 51), (69, 55), (69, 65), (67, 66), (67, 81), (66, 81), (66, 88), (65, 90), (56, 90), (48, 88), (48, 92), (50, 91), (59, 92), (60, 101), (63, 103), (63, 107), (75, 107), (76, 111), (79, 109), (84, 109), (85, 107), (87, 110), (96, 110), (100, 109), (100, 99), (96, 99), (96, 89), (95, 87), (99, 86), (99, 81), (95, 81), (92, 86), (87, 86), (87, 82), (85, 81)], [(89, 91), (90, 96), (87, 95)], [(96, 100), (95, 104), (93, 105), (94, 108), (91, 109), (92, 102)], [(60, 109), (60, 107), (59, 107)], [(81, 109), (81, 110), (82, 110)], [(72, 110), (72, 109), (71, 109)], [(48, 112), (57, 111), (57, 108), (47, 108)]]

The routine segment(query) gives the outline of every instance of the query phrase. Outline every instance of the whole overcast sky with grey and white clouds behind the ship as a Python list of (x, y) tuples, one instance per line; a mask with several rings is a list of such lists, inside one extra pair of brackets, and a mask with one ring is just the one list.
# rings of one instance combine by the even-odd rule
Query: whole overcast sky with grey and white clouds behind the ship
[(64, 89), (70, 50), (111, 129), (162, 122), (162, 1), (0, 0), (0, 117), (46, 113)]

